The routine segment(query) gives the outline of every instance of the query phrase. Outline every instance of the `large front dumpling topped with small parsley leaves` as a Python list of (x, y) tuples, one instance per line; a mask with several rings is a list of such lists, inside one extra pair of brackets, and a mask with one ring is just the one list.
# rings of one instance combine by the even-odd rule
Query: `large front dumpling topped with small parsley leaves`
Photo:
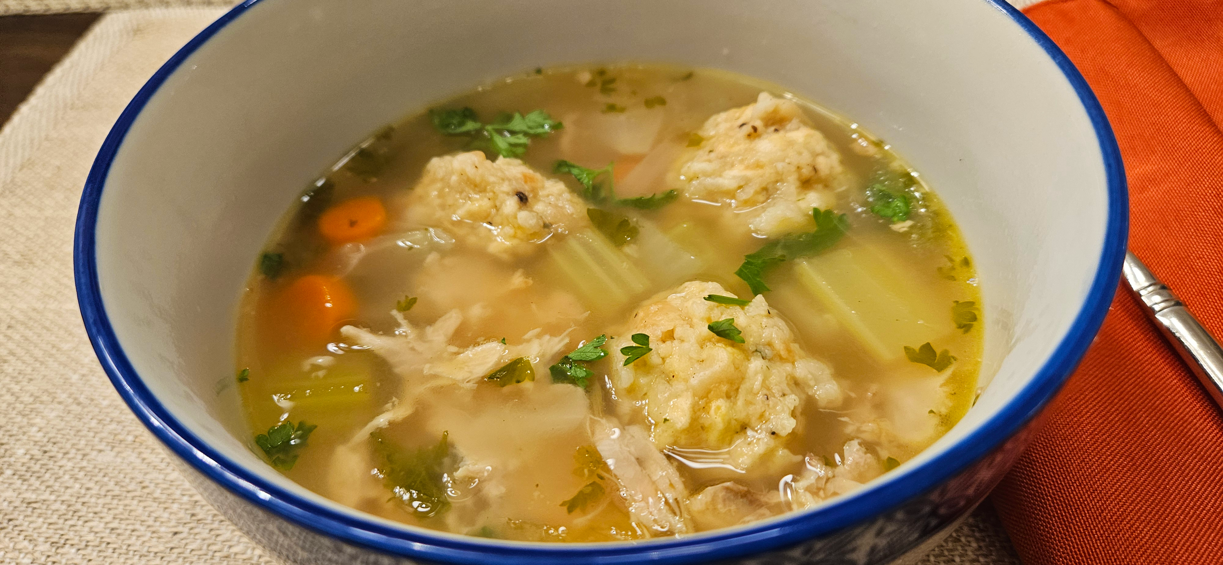
[[(726, 306), (707, 295), (729, 292), (717, 282), (691, 281), (638, 307), (612, 340), (612, 380), (627, 410), (646, 411), (659, 449), (725, 449), (728, 462), (746, 470), (778, 455), (808, 397), (832, 406), (841, 391), (763, 296)], [(726, 318), (742, 331), (742, 344), (709, 330)], [(638, 333), (649, 335), (653, 351), (624, 366), (620, 347), (634, 345)]]

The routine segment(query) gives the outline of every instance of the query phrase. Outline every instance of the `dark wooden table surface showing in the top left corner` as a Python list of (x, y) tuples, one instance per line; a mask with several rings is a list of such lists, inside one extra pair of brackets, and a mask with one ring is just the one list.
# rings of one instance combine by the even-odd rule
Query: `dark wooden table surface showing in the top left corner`
[(99, 13), (0, 17), (0, 124), (81, 38)]

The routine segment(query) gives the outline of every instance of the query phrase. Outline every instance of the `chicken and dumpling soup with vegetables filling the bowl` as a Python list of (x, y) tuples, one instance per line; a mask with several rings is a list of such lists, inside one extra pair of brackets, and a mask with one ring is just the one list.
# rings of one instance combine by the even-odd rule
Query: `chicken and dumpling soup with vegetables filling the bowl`
[(972, 259), (890, 147), (759, 81), (537, 68), (386, 126), (256, 260), (237, 382), (303, 487), (490, 538), (813, 508), (965, 413)]

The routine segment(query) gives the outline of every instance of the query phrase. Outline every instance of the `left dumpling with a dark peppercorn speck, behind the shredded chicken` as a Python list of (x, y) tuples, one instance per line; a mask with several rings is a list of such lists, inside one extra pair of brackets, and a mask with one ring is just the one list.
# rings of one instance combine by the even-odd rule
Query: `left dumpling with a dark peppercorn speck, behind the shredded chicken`
[(517, 159), (494, 163), (481, 152), (429, 160), (407, 216), (504, 258), (526, 257), (549, 236), (589, 225), (586, 205), (565, 183)]

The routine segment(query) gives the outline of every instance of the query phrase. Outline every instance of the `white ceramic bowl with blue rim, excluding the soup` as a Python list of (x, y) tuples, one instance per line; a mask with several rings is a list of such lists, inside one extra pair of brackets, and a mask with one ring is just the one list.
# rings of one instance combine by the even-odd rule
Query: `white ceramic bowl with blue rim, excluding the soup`
[[(955, 214), (985, 295), (988, 386), (928, 450), (818, 509), (681, 539), (444, 534), (309, 493), (245, 448), (234, 320), (307, 182), (382, 124), (534, 66), (722, 67), (893, 143)], [(1125, 186), (1070, 62), (1000, 0), (248, 0), (176, 54), (106, 138), (77, 226), (86, 325), (120, 394), (223, 512), (297, 563), (890, 560), (966, 512), (1108, 308)]]

